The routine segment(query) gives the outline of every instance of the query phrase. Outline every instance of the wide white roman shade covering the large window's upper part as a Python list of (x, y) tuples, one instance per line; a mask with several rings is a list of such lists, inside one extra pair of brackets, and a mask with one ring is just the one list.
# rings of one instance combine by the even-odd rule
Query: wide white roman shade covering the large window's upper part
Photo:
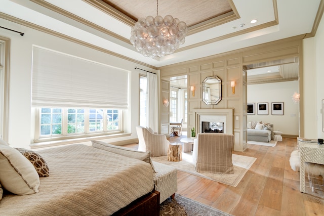
[(33, 48), (32, 106), (128, 107), (129, 71)]

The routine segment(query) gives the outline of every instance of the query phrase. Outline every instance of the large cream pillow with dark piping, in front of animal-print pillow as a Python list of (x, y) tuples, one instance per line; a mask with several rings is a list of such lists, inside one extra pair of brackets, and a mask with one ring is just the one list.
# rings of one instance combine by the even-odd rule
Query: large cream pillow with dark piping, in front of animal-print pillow
[(18, 150), (0, 145), (0, 182), (17, 195), (38, 193), (39, 176), (34, 166)]

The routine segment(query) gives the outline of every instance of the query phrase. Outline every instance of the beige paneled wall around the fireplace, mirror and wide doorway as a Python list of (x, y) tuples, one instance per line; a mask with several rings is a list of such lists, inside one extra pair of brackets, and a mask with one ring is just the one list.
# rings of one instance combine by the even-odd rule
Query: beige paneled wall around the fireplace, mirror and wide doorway
[[(161, 67), (160, 77), (169, 78), (176, 75), (188, 75), (188, 87), (195, 86), (195, 96), (189, 94), (188, 99), (188, 130), (195, 124), (193, 109), (226, 109), (233, 108), (234, 150), (244, 151), (246, 144), (246, 103), (247, 83), (245, 65), (284, 58), (299, 57), (302, 61), (302, 36), (269, 42), (246, 49), (236, 50), (222, 55), (188, 61)], [(299, 72), (302, 74), (302, 63)], [(218, 105), (205, 105), (201, 101), (201, 82), (207, 76), (217, 75), (222, 79), (222, 101)], [(302, 76), (301, 76), (302, 77)], [(230, 81), (236, 82), (235, 94), (232, 94)], [(303, 89), (303, 83), (299, 83)], [(301, 99), (300, 104), (303, 104)], [(302, 108), (300, 109), (302, 111)], [(237, 120), (238, 119), (238, 120)], [(303, 123), (303, 119), (300, 119)], [(301, 128), (303, 134), (303, 128)]]

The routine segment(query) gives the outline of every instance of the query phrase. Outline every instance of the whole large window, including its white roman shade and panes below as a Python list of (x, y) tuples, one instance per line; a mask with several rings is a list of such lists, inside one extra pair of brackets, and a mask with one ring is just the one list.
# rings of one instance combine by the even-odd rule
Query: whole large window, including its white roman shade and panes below
[(34, 142), (124, 132), (130, 71), (36, 46), (32, 60)]

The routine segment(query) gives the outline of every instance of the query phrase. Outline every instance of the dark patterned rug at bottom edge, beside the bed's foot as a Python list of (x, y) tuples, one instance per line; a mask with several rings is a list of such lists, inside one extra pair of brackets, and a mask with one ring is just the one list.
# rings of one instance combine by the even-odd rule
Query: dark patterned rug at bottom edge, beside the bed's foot
[(174, 199), (168, 198), (160, 204), (160, 216), (196, 216), (196, 215), (210, 215), (210, 216), (229, 216), (231, 214), (225, 213), (216, 208), (188, 199), (179, 194), (175, 195)]

